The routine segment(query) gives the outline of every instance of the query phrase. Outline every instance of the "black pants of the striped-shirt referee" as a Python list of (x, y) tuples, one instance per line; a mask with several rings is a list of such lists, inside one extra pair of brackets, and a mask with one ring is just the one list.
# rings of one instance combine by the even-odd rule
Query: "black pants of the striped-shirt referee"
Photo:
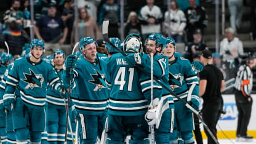
[(236, 107), (238, 108), (238, 127), (236, 129), (236, 135), (246, 136), (247, 126), (250, 122), (250, 113), (252, 112), (252, 100), (250, 102), (241, 101), (242, 92), (238, 91), (234, 93), (236, 97)]

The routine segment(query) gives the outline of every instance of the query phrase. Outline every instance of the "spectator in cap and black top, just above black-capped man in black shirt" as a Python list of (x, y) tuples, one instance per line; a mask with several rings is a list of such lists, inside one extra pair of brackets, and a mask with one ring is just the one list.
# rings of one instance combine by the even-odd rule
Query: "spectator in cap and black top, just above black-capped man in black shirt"
[(185, 54), (183, 55), (185, 58), (193, 62), (193, 56), (196, 55), (197, 52), (202, 52), (204, 49), (208, 49), (206, 44), (202, 42), (202, 33), (200, 29), (196, 29), (193, 32), (193, 42), (188, 42), (185, 47)]

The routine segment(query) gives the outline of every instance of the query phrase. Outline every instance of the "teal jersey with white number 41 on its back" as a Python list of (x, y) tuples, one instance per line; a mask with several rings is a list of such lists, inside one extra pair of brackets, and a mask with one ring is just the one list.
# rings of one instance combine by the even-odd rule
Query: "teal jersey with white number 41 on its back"
[(129, 66), (126, 58), (120, 53), (113, 54), (107, 64), (106, 82), (110, 89), (108, 113), (116, 116), (138, 116), (146, 113), (148, 101), (140, 86), (142, 72), (135, 66)]

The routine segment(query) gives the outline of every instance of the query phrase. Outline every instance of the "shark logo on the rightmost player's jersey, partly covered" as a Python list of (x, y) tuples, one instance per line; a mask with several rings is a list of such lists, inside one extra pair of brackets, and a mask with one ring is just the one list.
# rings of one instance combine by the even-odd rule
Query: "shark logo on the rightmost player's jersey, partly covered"
[(183, 76), (180, 76), (180, 73), (172, 74), (169, 72), (169, 79), (170, 89), (174, 90), (175, 87), (182, 87)]

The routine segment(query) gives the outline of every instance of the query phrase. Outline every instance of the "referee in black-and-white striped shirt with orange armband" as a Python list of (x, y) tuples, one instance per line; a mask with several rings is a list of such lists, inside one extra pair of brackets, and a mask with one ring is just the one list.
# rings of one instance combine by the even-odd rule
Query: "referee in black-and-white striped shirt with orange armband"
[(247, 135), (247, 126), (252, 112), (252, 67), (255, 66), (256, 57), (253, 54), (246, 55), (246, 64), (239, 67), (234, 92), (236, 98), (236, 107), (238, 108), (238, 127), (236, 129), (237, 141), (250, 141), (252, 136)]

